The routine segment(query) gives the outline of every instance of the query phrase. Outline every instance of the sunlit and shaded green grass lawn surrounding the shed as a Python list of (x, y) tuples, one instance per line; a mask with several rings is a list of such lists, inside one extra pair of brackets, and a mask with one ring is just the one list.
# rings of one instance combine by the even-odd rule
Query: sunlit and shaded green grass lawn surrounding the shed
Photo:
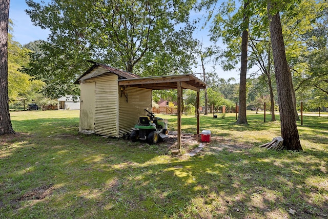
[[(267, 121), (271, 116), (267, 114)], [(177, 128), (177, 117), (169, 131)], [(249, 126), (200, 117), (211, 142), (149, 145), (78, 134), (79, 111), (11, 112), (16, 135), (0, 136), (0, 218), (327, 218), (328, 117), (303, 116), (303, 151), (258, 147), (279, 122)], [(279, 116), (276, 116), (279, 118)], [(196, 119), (182, 117), (183, 133)]]

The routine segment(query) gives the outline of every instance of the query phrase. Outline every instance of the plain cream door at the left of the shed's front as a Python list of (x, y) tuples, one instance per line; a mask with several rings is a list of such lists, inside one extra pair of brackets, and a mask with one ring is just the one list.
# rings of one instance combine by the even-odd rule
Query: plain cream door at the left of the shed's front
[(95, 82), (81, 83), (79, 131), (94, 133)]

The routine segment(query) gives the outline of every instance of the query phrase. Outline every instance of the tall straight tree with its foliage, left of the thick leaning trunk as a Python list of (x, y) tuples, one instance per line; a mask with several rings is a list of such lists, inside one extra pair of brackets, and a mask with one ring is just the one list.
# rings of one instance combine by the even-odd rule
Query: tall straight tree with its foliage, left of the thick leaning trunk
[[(217, 1), (210, 2), (216, 3)], [(223, 2), (213, 19), (210, 31), (211, 41), (217, 42), (222, 38), (223, 43), (227, 45), (227, 48), (223, 51), (214, 50), (218, 51), (217, 59), (221, 60), (223, 69), (232, 70), (240, 62), (239, 114), (236, 123), (248, 124), (246, 116), (246, 78), (249, 19), (252, 11), (248, 0), (244, 0), (242, 3), (243, 6), (236, 8), (234, 0)]]

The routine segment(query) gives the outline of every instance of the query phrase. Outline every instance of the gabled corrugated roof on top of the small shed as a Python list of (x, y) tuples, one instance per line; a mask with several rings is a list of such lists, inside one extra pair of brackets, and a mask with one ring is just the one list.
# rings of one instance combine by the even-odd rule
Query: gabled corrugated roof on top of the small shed
[[(124, 70), (120, 70), (120, 69), (116, 69), (116, 68), (113, 68), (111, 66), (107, 66), (105, 64), (101, 64), (101, 63), (96, 63), (96, 62), (93, 62), (93, 61), (87, 61), (89, 63), (92, 63), (93, 66), (91, 66), (83, 75), (81, 75), (75, 82), (74, 84), (79, 84), (80, 81), (82, 80), (85, 80), (85, 79), (89, 79), (89, 78), (92, 78), (92, 77), (96, 77), (96, 76), (99, 76), (101, 74), (105, 74), (105, 73), (114, 73), (116, 75), (119, 76), (119, 79), (132, 79), (132, 78), (139, 78), (140, 76), (139, 75), (136, 75), (136, 74), (133, 74), (131, 72), (128, 72), (128, 71), (124, 71)], [(101, 74), (97, 74), (97, 75), (92, 75), (90, 74), (89, 77), (85, 77), (86, 75), (88, 75), (92, 70), (98, 68), (98, 67), (102, 67), (106, 70), (108, 70), (107, 72), (104, 72), (104, 73), (101, 73)]]

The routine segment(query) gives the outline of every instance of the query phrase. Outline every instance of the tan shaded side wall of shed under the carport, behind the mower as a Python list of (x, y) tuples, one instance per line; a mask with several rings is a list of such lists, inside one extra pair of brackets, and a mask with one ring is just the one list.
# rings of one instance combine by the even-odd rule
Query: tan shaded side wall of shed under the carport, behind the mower
[(120, 97), (119, 90), (119, 117), (118, 117), (118, 135), (123, 136), (133, 129), (138, 122), (140, 115), (145, 115), (145, 109), (151, 110), (152, 107), (152, 91), (149, 89), (127, 87), (125, 93), (128, 94), (128, 102), (126, 97)]

